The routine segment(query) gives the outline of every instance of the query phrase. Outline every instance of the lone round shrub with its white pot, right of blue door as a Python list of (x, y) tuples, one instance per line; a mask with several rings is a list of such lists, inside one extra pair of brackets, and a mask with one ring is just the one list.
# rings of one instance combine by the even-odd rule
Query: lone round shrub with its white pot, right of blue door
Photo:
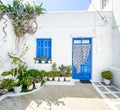
[(102, 78), (104, 79), (104, 83), (106, 85), (110, 84), (110, 80), (112, 79), (112, 73), (111, 73), (111, 71), (109, 71), (109, 70), (103, 71), (101, 73), (101, 75), (102, 75)]

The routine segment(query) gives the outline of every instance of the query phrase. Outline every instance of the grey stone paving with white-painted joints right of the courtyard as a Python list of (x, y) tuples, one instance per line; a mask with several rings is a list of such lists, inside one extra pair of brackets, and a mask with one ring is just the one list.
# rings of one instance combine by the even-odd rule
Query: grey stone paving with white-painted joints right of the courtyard
[(120, 110), (120, 90), (104, 83), (94, 82), (93, 86), (112, 110)]

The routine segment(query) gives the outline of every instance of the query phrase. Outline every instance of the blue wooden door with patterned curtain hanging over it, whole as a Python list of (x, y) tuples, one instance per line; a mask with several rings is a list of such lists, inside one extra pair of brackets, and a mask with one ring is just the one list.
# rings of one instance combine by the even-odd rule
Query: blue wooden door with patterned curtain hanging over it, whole
[[(78, 50), (75, 50), (76, 49), (75, 46), (77, 47)], [(78, 57), (78, 59), (76, 59), (77, 58), (76, 56)], [(81, 56), (83, 56), (84, 58), (81, 58)], [(72, 78), (80, 80), (90, 80), (91, 74), (92, 74), (92, 38), (73, 38)]]

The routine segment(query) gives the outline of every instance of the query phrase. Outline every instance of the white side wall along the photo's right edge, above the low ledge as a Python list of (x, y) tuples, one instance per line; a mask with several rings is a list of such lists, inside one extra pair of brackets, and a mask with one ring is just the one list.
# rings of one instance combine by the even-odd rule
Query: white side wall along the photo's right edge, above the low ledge
[(120, 68), (120, 1), (113, 0), (113, 66)]

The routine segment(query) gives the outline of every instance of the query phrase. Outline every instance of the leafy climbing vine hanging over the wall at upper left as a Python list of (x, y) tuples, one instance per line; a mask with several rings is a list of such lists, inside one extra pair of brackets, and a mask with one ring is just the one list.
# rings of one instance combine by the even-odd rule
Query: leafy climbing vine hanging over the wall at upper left
[(34, 34), (38, 28), (36, 22), (36, 16), (44, 14), (45, 9), (42, 8), (42, 3), (37, 6), (31, 6), (29, 3), (23, 4), (22, 0), (13, 0), (13, 5), (4, 5), (0, 0), (0, 20), (4, 19), (5, 26), (3, 32), (5, 36), (6, 19), (4, 15), (7, 15), (12, 21), (15, 34), (18, 38), (23, 37), (26, 33)]

